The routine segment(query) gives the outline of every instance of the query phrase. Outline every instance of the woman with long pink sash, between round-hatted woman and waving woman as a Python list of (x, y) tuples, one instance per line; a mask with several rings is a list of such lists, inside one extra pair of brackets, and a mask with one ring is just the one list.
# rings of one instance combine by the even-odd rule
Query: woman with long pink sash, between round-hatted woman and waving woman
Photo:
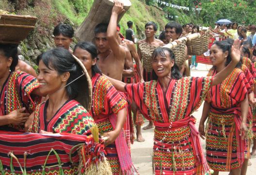
[[(94, 118), (99, 132), (108, 137), (105, 142), (105, 150), (113, 175), (136, 172), (122, 129), (126, 121), (127, 102), (98, 69), (96, 65), (97, 49), (94, 44), (90, 42), (76, 44), (74, 55), (80, 59), (92, 79), (93, 104), (90, 114)], [(124, 159), (126, 161), (122, 161)]]

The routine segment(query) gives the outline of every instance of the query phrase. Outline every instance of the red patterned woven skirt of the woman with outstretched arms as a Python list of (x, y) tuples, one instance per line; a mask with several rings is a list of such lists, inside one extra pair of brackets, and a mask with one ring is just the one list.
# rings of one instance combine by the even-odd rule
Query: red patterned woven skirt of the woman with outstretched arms
[(155, 128), (153, 168), (156, 175), (200, 175), (188, 126), (163, 130)]

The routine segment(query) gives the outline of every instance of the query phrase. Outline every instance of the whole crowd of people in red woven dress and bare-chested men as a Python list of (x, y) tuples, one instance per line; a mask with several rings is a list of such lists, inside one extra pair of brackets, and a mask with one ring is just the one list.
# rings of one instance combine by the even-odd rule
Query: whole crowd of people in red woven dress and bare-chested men
[[(193, 33), (204, 35), (204, 28), (171, 21), (157, 39), (158, 27), (151, 21), (145, 24), (145, 39), (137, 41), (128, 21), (125, 39), (117, 24), (122, 12), (122, 3), (115, 1), (110, 22), (95, 27), (94, 43), (79, 42), (74, 50), (74, 29), (57, 25), (56, 48), (38, 56), (37, 75), (29, 66), (19, 66), (25, 63), (17, 57), (16, 44), (0, 44), (0, 130), (86, 134), (96, 124), (107, 137), (112, 174), (133, 174), (138, 173), (130, 156), (133, 124), (137, 141), (144, 142), (146, 118), (144, 129), (155, 127), (156, 175), (246, 175), (252, 142), (251, 155), (256, 154), (256, 27), (232, 23), (231, 29), (219, 24), (209, 29), (213, 67), (205, 77), (192, 77), (189, 69), (197, 69), (196, 56), (188, 56), (185, 48), (186, 61), (178, 66), (173, 51), (161, 46), (180, 44), (180, 37)], [(192, 113), (202, 103), (197, 129)], [(206, 138), (206, 158), (200, 136)]]

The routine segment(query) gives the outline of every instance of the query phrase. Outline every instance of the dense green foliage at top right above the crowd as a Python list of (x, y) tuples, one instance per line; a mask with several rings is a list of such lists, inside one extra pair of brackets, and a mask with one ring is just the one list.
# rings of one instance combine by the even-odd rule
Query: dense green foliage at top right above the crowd
[[(256, 0), (162, 0), (168, 3), (186, 6), (190, 8), (202, 8), (197, 11), (183, 11), (166, 7), (154, 0), (145, 0), (148, 5), (158, 5), (166, 14), (174, 17), (174, 20), (184, 23), (213, 25), (219, 19), (229, 19), (240, 24), (256, 24)], [(169, 20), (172, 20), (169, 18)]]

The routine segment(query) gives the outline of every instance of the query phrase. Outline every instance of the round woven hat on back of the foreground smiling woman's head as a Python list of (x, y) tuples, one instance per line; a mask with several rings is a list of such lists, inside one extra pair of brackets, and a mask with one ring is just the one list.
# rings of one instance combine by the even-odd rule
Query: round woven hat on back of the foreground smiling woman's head
[(93, 88), (92, 88), (92, 80), (90, 75), (88, 74), (87, 70), (85, 69), (83, 63), (78, 59), (76, 56), (73, 55), (76, 59), (78, 64), (81, 67), (82, 73), (84, 76), (80, 77), (78, 80), (80, 82), (79, 88), (79, 96), (75, 99), (76, 101), (80, 102), (81, 105), (87, 110), (91, 110), (92, 101), (93, 101)]

